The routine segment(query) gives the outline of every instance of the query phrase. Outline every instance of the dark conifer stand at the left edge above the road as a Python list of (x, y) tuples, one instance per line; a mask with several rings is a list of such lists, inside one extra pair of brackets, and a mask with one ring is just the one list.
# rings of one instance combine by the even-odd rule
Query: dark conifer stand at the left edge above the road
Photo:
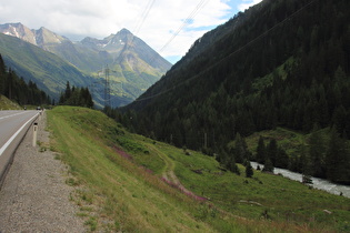
[(19, 103), (20, 105), (51, 104), (51, 98), (32, 81), (26, 83), (23, 78), (7, 69), (0, 54), (0, 94)]

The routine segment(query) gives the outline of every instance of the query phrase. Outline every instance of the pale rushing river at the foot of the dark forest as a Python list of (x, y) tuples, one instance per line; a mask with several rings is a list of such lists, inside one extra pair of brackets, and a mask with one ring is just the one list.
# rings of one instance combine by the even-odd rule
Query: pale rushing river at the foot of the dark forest
[[(261, 170), (263, 168), (262, 164), (257, 163), (257, 162), (250, 162), (250, 164), (253, 169), (257, 169), (258, 165), (260, 166)], [(302, 182), (302, 174), (291, 172), (291, 171), (288, 171), (286, 169), (274, 168), (273, 173), (274, 174), (280, 173), (284, 178), (288, 178), (288, 179), (293, 180), (293, 181)], [(308, 184), (308, 185), (310, 185), (314, 189), (324, 190), (324, 191), (332, 193), (332, 194), (336, 194), (336, 195), (339, 195), (340, 193), (342, 193), (343, 196), (347, 196), (350, 199), (350, 186), (348, 186), (348, 185), (334, 184), (334, 183), (331, 183), (327, 180), (319, 179), (319, 178), (311, 178), (311, 180), (312, 180), (312, 184)]]

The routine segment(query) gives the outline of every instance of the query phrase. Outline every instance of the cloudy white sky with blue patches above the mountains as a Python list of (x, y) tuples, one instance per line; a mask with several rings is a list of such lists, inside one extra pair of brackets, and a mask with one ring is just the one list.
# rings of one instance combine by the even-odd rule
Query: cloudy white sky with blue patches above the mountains
[(44, 27), (72, 41), (126, 28), (171, 63), (207, 31), (261, 0), (0, 0), (0, 24)]

